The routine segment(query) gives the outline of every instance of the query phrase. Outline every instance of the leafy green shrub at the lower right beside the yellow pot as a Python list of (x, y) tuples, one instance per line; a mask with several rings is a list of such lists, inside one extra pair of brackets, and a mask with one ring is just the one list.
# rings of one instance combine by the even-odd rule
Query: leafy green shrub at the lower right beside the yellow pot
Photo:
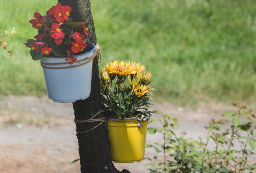
[[(172, 130), (178, 126), (177, 118), (170, 115), (159, 118), (163, 128), (148, 128), (148, 133), (160, 133), (164, 143), (147, 144), (146, 147), (153, 147), (157, 153), (163, 153), (164, 160), (151, 163), (150, 173), (243, 173), (245, 170), (252, 173), (256, 170), (256, 164), (247, 163), (248, 157), (255, 154), (256, 126), (252, 121), (255, 116), (246, 106), (234, 103), (233, 105), (238, 109), (237, 113), (223, 113), (223, 117), (230, 120), (230, 128), (222, 130), (221, 125), (225, 124), (225, 121), (210, 120), (209, 125), (205, 127), (208, 131), (205, 141), (200, 137), (199, 141), (187, 139), (186, 133), (177, 136)], [(213, 150), (209, 149), (209, 142), (215, 143)], [(235, 149), (236, 145), (241, 146), (241, 150)], [(156, 158), (154, 156), (148, 159), (153, 161)]]

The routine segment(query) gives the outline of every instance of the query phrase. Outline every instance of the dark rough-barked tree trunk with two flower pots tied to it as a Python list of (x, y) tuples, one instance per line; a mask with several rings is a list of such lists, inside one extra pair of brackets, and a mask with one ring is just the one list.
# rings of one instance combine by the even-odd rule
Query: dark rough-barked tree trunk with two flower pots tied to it
[[(58, 0), (61, 5), (69, 5), (72, 8), (71, 17), (74, 21), (84, 21), (87, 27), (89, 40), (96, 45), (96, 33), (92, 18), (89, 0)], [(97, 56), (92, 63), (92, 85), (90, 97), (73, 103), (74, 116), (76, 120), (87, 120), (103, 110), (100, 98), (99, 67)], [(95, 118), (102, 118), (103, 113)], [(76, 124), (77, 132), (84, 132), (94, 128), (100, 122)], [(120, 173), (111, 161), (108, 136), (105, 123), (87, 133), (77, 133), (79, 144), (79, 156), (81, 173)], [(130, 173), (123, 170), (122, 173)]]

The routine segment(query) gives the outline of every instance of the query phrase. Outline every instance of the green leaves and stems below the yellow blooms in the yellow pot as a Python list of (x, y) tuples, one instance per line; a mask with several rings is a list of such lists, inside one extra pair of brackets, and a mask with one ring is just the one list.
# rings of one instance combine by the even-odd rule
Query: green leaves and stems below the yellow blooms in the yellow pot
[[(107, 75), (107, 72), (105, 72), (105, 74)], [(157, 113), (155, 110), (148, 110), (146, 108), (148, 105), (152, 105), (148, 95), (150, 90), (145, 91), (146, 94), (142, 96), (137, 96), (134, 92), (134, 87), (136, 86), (128, 84), (129, 78), (131, 79), (131, 75), (129, 75), (129, 77), (128, 75), (112, 76), (108, 80), (104, 80), (104, 78), (101, 77), (101, 98), (104, 103), (104, 110), (110, 117), (122, 119), (142, 117), (143, 120), (146, 120), (151, 116), (150, 113)], [(140, 81), (140, 79), (137, 78), (137, 73), (133, 75), (133, 80), (135, 79)], [(113, 82), (115, 83), (114, 86), (112, 86)], [(140, 85), (142, 82), (143, 81), (137, 83), (137, 85)], [(149, 83), (150, 81), (143, 84), (149, 85)], [(138, 111), (139, 109), (143, 111)]]

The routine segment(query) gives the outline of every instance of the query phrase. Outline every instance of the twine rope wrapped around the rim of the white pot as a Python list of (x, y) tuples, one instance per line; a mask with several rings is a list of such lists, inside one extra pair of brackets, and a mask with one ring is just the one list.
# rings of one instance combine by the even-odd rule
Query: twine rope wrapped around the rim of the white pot
[[(96, 55), (98, 55), (98, 59), (100, 59), (100, 62), (102, 63), (102, 57), (101, 57), (101, 53), (100, 53), (100, 46), (99, 46), (98, 43), (95, 45), (95, 50), (93, 51), (92, 56), (84, 58), (82, 60), (76, 60), (74, 63), (79, 63), (77, 65), (69, 65), (69, 66), (66, 66), (66, 67), (48, 67), (48, 66), (45, 66), (45, 65), (65, 65), (65, 64), (69, 64), (69, 62), (64, 62), (64, 63), (42, 63), (42, 62), (40, 62), (40, 63), (41, 63), (41, 66), (43, 68), (48, 68), (48, 69), (74, 68), (74, 67), (79, 67), (81, 65), (85, 65), (87, 63), (90, 63), (95, 58)], [(86, 62), (81, 63), (83, 61), (86, 61)]]

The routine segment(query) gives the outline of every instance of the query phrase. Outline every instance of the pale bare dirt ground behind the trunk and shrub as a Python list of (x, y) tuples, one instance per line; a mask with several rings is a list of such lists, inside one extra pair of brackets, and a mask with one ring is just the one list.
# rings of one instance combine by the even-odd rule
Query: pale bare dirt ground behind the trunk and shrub
[[(155, 103), (151, 109), (168, 113), (180, 120), (175, 133), (187, 131), (188, 137), (206, 136), (210, 118), (220, 119), (233, 106), (200, 105), (198, 108), (176, 107)], [(255, 110), (255, 108), (251, 108)], [(160, 115), (154, 115), (159, 117)], [(150, 124), (149, 126), (159, 126)], [(147, 135), (146, 143), (161, 141), (159, 135)], [(154, 150), (146, 148), (145, 157)], [(0, 98), (0, 173), (79, 173), (80, 163), (74, 125), (74, 110), (70, 103), (54, 103), (47, 96), (8, 96)], [(256, 157), (250, 158), (256, 163)], [(118, 170), (131, 173), (149, 172), (148, 160), (136, 163), (115, 163)]]

